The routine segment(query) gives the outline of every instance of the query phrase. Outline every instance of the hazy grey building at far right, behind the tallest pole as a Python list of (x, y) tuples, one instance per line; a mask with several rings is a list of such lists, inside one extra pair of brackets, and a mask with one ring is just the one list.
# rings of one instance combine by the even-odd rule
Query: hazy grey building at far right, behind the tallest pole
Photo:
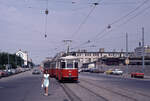
[[(135, 48), (135, 56), (141, 57), (142, 56), (142, 46), (139, 44), (139, 47)], [(144, 54), (145, 56), (150, 56), (150, 46), (144, 46)]]

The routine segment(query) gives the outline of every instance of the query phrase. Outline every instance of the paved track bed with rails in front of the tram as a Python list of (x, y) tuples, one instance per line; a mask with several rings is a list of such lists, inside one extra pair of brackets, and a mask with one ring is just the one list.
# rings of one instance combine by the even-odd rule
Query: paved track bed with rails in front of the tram
[[(60, 85), (68, 96), (69, 101), (86, 101), (86, 98), (78, 94), (81, 92), (86, 92), (85, 95), (95, 97), (93, 101), (149, 101), (150, 99), (150, 95), (142, 92), (132, 91), (127, 88), (102, 86), (91, 79), (80, 79), (80, 83), (61, 83)], [(90, 100), (88, 99), (87, 101)]]

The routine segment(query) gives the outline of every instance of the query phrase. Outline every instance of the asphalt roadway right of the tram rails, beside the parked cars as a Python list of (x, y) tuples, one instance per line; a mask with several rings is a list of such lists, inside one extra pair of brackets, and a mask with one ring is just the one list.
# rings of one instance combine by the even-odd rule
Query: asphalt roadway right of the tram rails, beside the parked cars
[(114, 85), (120, 88), (127, 88), (130, 90), (139, 90), (145, 93), (150, 93), (150, 79), (140, 78), (126, 78), (117, 75), (106, 75), (97, 73), (81, 73), (81, 78), (90, 77), (96, 79), (97, 83), (105, 85)]

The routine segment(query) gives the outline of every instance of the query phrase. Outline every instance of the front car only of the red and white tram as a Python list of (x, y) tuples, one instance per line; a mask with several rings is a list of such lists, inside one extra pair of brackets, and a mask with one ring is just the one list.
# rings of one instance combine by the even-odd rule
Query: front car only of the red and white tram
[(57, 61), (56, 71), (59, 81), (78, 80), (78, 59), (75, 56), (61, 57)]

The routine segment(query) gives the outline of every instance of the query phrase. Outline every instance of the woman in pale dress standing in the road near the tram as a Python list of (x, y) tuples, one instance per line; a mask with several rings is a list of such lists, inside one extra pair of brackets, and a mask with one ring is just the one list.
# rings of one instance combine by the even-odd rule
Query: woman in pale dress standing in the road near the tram
[(48, 70), (44, 70), (42, 79), (42, 88), (44, 87), (44, 95), (48, 96), (48, 86), (49, 86), (49, 74)]

